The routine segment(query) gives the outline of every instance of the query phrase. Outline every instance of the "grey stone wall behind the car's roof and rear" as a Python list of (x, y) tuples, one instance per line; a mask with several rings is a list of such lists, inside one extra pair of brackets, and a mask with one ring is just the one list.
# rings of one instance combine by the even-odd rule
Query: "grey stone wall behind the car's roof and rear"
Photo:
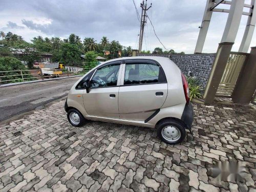
[(193, 76), (197, 77), (200, 85), (205, 88), (206, 82), (210, 75), (212, 63), (214, 62), (215, 53), (202, 54), (142, 54), (136, 56), (161, 56), (168, 57), (174, 61), (184, 75), (192, 72)]

